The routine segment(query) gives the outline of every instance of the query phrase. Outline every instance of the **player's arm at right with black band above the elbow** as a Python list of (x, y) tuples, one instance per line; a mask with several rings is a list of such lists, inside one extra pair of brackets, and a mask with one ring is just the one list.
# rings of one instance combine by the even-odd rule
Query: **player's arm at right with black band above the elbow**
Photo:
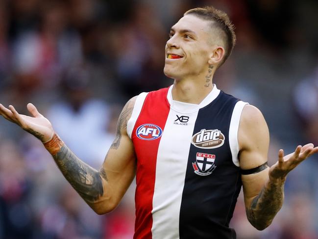
[[(269, 131), (262, 113), (254, 106), (245, 106), (239, 128), (240, 165), (251, 169), (267, 162)], [(318, 152), (313, 144), (298, 146), (295, 152), (261, 171), (242, 175), (246, 215), (258, 230), (270, 225), (284, 201), (284, 184), (287, 174), (301, 161)]]

